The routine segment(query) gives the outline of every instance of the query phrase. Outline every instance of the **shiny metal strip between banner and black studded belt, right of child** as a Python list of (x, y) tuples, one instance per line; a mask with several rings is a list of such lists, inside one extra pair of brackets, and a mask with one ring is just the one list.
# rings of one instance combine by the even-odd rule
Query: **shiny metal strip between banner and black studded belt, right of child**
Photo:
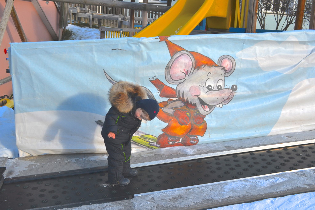
[(278, 147), (289, 147), (289, 146), (312, 144), (312, 143), (315, 143), (315, 139), (295, 141), (295, 142), (289, 142), (289, 143), (281, 143), (281, 144), (275, 144), (275, 145), (249, 147), (249, 148), (245, 148), (245, 149), (228, 150), (228, 151), (207, 153), (207, 154), (202, 154), (202, 155), (194, 155), (194, 156), (186, 156), (186, 157), (179, 157), (179, 158), (173, 158), (173, 159), (165, 159), (165, 160), (160, 160), (160, 161), (135, 163), (135, 164), (131, 164), (131, 167), (134, 168), (134, 167), (151, 166), (151, 165), (157, 165), (157, 164), (163, 164), (163, 163), (171, 163), (171, 162), (204, 158), (204, 157), (215, 157), (215, 156), (221, 156), (221, 155), (230, 155), (230, 154), (249, 152), (249, 151), (258, 151), (258, 150), (269, 150), (269, 149), (278, 148)]

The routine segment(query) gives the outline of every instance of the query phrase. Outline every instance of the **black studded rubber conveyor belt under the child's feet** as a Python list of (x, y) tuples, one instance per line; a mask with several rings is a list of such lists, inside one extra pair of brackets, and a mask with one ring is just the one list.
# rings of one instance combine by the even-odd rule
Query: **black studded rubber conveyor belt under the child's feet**
[(33, 179), (4, 184), (3, 210), (60, 209), (115, 200), (134, 194), (240, 179), (314, 167), (315, 145), (245, 152), (136, 168), (127, 186), (106, 184), (107, 172)]

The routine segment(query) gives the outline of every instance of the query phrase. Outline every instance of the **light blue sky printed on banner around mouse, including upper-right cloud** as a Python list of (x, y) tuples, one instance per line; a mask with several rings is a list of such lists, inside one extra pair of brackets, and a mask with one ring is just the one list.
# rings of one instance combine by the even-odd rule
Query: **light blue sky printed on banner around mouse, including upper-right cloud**
[[(237, 85), (237, 94), (229, 104), (206, 116), (204, 138), (267, 135), (292, 88), (315, 77), (314, 37), (310, 30), (169, 37), (215, 62), (222, 55), (235, 59), (235, 71), (226, 77), (225, 85)], [(150, 89), (158, 102), (167, 100), (159, 97), (150, 78), (176, 88), (165, 80), (169, 60), (166, 43), (156, 37), (11, 43), (15, 113), (69, 110), (105, 116), (111, 84), (103, 70), (116, 81), (137, 82)], [(159, 120), (150, 123), (160, 129), (166, 126)], [(162, 133), (160, 129), (144, 129), (155, 136)]]

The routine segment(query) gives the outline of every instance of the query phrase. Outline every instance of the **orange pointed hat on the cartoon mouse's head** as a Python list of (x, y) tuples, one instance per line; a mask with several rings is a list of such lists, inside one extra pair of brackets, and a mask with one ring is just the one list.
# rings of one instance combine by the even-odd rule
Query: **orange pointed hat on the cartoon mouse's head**
[[(169, 48), (169, 54), (171, 55), (171, 57), (179, 52), (179, 51), (183, 51), (185, 50), (184, 48), (180, 47), (177, 44), (172, 43), (171, 41), (168, 40), (168, 37), (170, 36), (161, 36), (158, 37), (160, 39), (160, 42), (165, 42), (167, 48)], [(192, 54), (192, 56), (195, 58), (196, 64), (195, 64), (195, 69), (203, 66), (203, 65), (208, 65), (208, 66), (218, 66), (213, 60), (211, 60), (209, 57), (204, 56), (203, 54), (197, 53), (197, 52), (193, 52), (193, 51), (188, 51), (185, 50), (189, 53)]]

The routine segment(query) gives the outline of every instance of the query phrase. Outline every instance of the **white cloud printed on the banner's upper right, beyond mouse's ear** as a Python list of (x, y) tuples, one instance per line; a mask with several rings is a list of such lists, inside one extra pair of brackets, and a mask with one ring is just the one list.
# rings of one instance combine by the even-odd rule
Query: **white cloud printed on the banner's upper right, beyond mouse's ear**
[(262, 41), (239, 51), (236, 56), (245, 60), (257, 60), (263, 71), (292, 74), (298, 68), (315, 65), (315, 47), (300, 44), (294, 36), (282, 43)]

